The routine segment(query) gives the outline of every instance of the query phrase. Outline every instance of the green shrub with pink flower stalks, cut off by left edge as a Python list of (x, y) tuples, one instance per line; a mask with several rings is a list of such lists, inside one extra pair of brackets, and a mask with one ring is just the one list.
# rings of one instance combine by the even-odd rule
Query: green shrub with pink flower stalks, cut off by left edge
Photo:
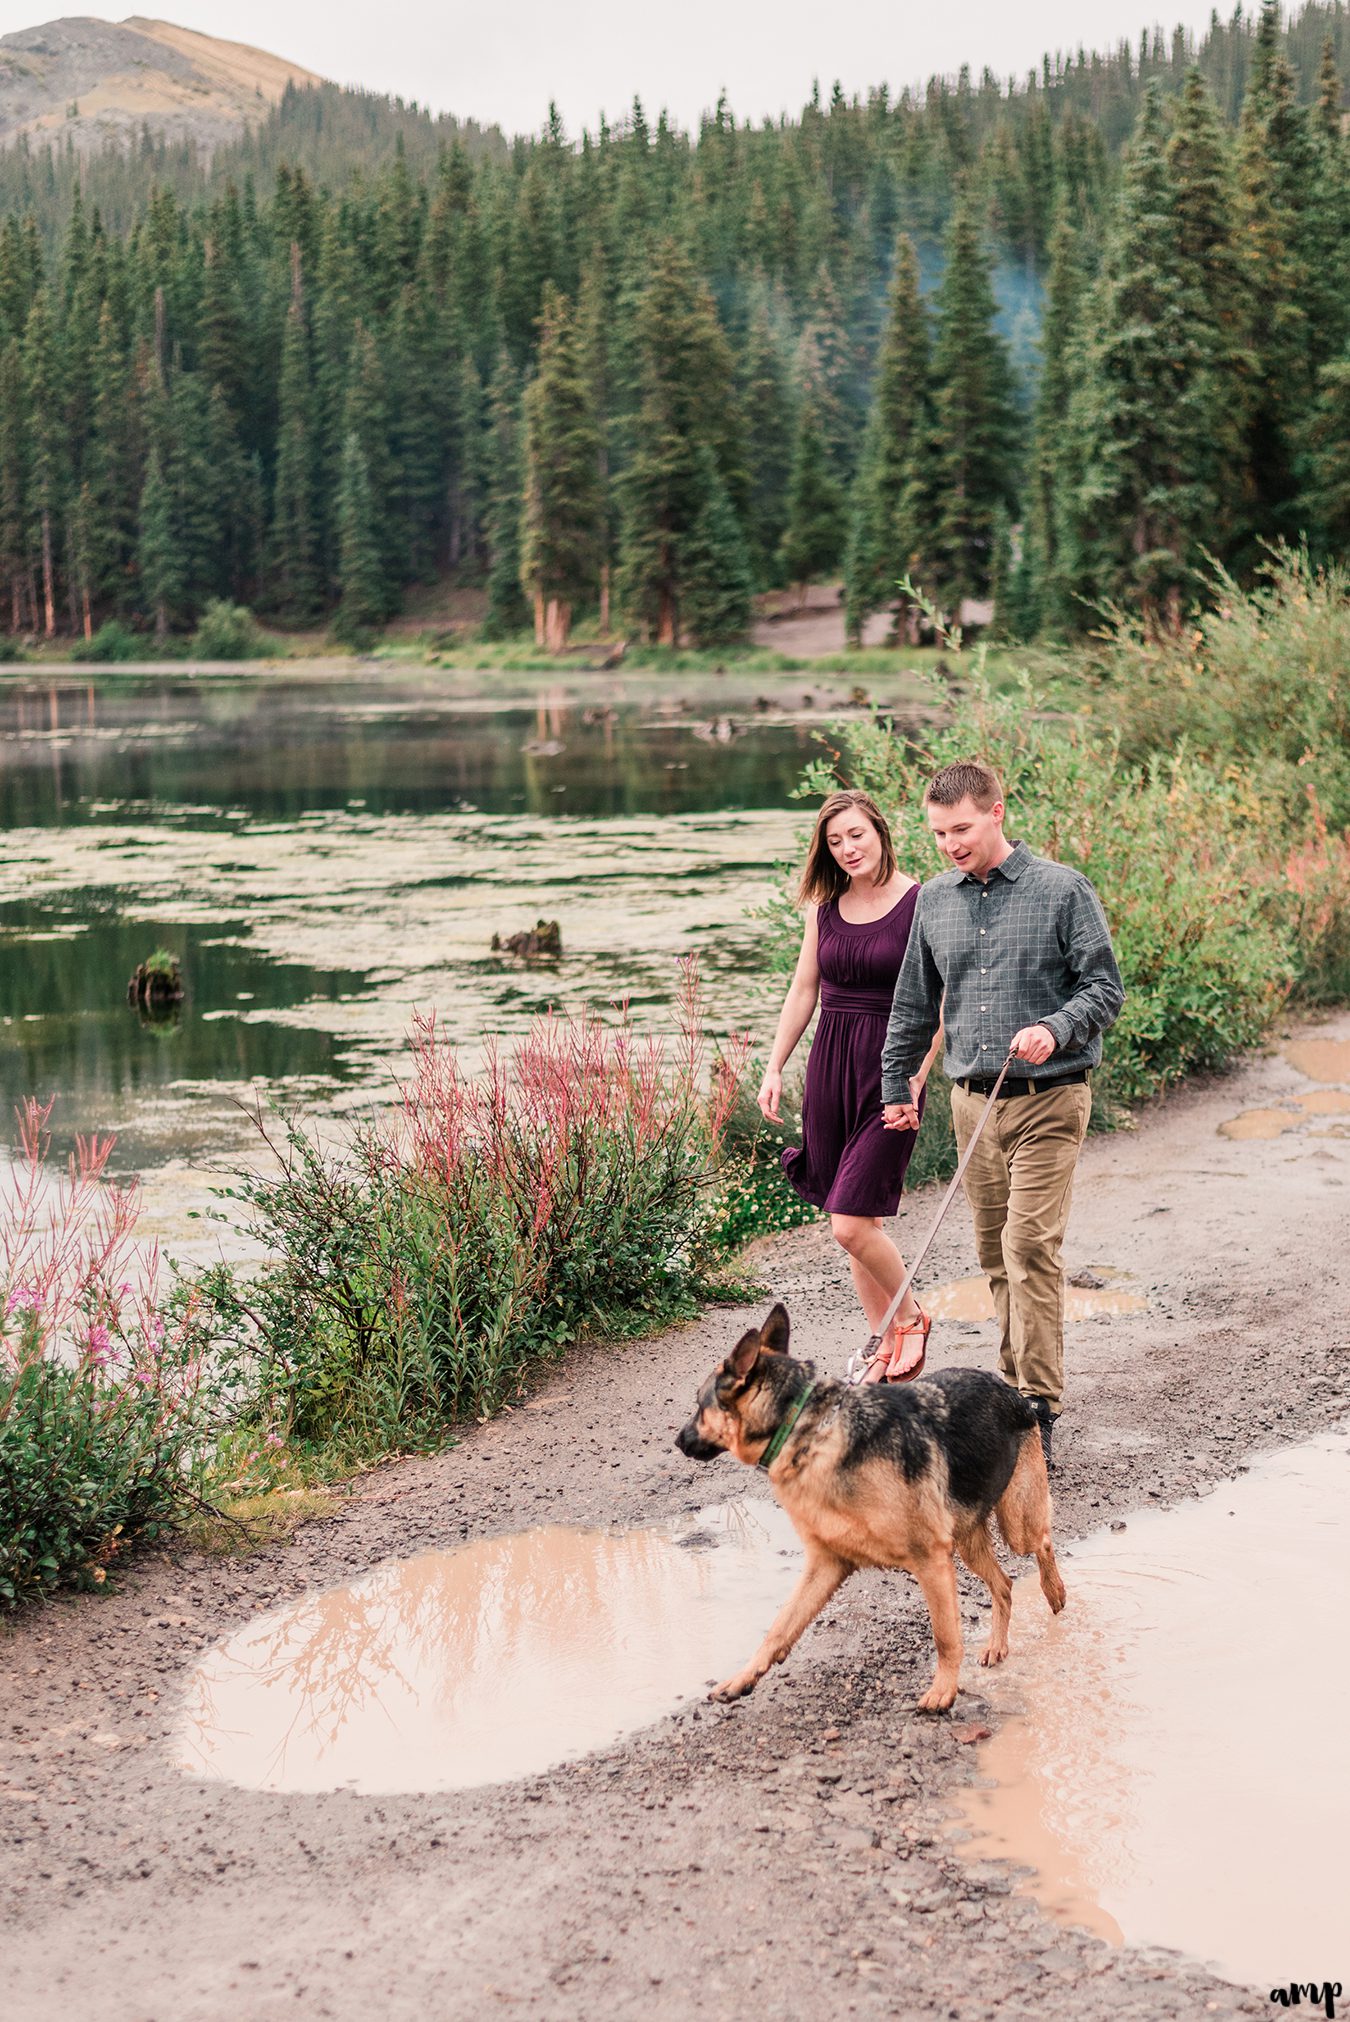
[(49, 1110), (20, 1112), (0, 1193), (0, 1607), (101, 1585), (190, 1496), (200, 1363), (166, 1328), (135, 1195), (103, 1181), (111, 1138), (46, 1171)]

